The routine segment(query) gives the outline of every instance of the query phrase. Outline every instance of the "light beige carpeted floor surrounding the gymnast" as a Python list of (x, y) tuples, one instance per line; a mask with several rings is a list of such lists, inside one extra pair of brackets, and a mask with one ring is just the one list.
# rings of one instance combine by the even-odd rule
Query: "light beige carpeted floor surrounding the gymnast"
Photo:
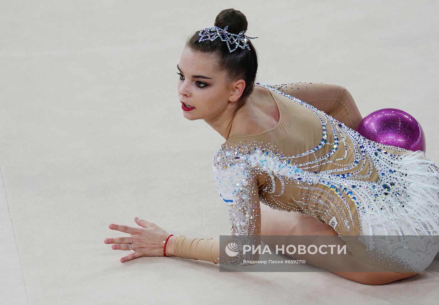
[(384, 286), (220, 273), (175, 257), (121, 263), (128, 251), (103, 243), (135, 216), (174, 235), (230, 233), (211, 168), (224, 139), (186, 120), (176, 92), (186, 38), (229, 7), (259, 37), (257, 81), (342, 85), (363, 116), (407, 111), (439, 161), (437, 1), (4, 0), (0, 304), (437, 304), (434, 272)]

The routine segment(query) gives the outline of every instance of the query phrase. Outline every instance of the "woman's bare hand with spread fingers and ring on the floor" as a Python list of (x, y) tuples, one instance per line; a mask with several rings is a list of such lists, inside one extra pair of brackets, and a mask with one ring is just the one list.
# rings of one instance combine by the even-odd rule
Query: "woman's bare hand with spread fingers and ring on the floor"
[[(134, 253), (122, 257), (121, 262), (130, 261), (142, 256), (163, 256), (163, 240), (170, 235), (155, 223), (144, 219), (134, 219), (140, 226), (122, 226), (111, 224), (108, 228), (124, 233), (130, 233), (130, 237), (106, 238), (105, 244), (113, 244), (113, 250), (134, 250)], [(131, 249), (130, 249), (131, 244)], [(168, 248), (168, 247), (167, 247)]]

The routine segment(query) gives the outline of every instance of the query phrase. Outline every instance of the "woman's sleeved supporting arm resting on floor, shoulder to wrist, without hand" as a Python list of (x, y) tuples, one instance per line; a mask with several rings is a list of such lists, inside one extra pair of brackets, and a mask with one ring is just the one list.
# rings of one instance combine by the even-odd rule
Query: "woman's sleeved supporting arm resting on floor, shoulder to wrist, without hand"
[[(240, 162), (225, 168), (219, 164), (214, 167), (216, 186), (229, 212), (231, 237), (222, 239), (220, 243), (219, 238), (196, 238), (180, 235), (172, 240), (173, 245), (166, 245), (167, 255), (169, 251), (169, 256), (241, 266), (253, 265), (254, 263), (248, 262), (259, 259), (258, 252), (252, 254), (252, 251), (245, 254), (240, 251), (234, 257), (227, 255), (219, 258), (220, 247), (225, 248), (228, 243), (234, 242), (234, 238), (245, 239), (245, 244), (255, 243), (255, 247), (259, 245), (260, 241), (258, 237), (260, 237), (261, 230), (261, 213), (258, 184), (251, 166), (243, 168), (242, 165)], [(247, 263), (244, 263), (244, 260)]]

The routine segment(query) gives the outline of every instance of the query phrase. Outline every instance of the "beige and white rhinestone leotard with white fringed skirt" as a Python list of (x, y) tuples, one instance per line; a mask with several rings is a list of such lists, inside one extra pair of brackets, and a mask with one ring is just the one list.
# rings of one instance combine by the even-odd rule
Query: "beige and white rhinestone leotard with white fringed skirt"
[[(260, 234), (262, 203), (328, 224), (356, 258), (371, 265), (396, 272), (424, 270), (439, 251), (439, 170), (425, 152), (367, 140), (282, 86), (255, 86), (270, 92), (279, 122), (263, 133), (230, 136), (212, 164), (231, 235)], [(420, 235), (432, 238), (412, 238), (406, 240), (411, 248), (400, 247), (401, 237)], [(218, 262), (212, 255), (217, 240), (203, 240), (207, 248), (189, 245), (185, 250), (184, 238), (174, 244), (177, 256), (194, 258), (198, 251), (195, 259)], [(237, 255), (230, 264), (242, 259)]]

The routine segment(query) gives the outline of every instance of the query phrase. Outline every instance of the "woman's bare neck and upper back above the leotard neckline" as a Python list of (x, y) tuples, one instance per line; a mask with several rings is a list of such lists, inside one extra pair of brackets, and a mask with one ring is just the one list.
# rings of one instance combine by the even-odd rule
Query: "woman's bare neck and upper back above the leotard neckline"
[(270, 92), (255, 86), (245, 104), (237, 111), (230, 135), (253, 135), (276, 126), (279, 111)]

